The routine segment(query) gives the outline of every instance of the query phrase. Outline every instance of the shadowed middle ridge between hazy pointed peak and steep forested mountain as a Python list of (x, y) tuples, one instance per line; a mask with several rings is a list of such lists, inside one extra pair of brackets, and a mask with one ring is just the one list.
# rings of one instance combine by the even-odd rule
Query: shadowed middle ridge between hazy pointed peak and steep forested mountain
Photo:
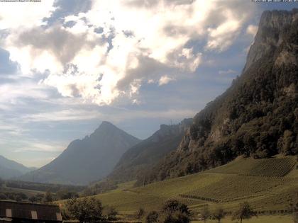
[(185, 130), (191, 124), (192, 118), (184, 119), (177, 125), (160, 125), (160, 130), (123, 154), (109, 179), (132, 181), (143, 176), (165, 154), (177, 149)]

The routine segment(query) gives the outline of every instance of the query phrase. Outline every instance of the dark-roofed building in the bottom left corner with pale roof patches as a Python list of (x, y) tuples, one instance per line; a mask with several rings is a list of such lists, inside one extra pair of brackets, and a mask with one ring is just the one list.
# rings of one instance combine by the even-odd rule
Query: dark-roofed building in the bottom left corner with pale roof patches
[(61, 223), (60, 207), (0, 200), (0, 223)]

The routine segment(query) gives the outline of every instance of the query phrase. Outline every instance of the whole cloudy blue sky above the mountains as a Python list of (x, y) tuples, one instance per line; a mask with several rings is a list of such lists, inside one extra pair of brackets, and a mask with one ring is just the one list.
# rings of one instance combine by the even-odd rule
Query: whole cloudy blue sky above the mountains
[(241, 74), (251, 0), (0, 2), (0, 155), (40, 167), (103, 120), (145, 139)]

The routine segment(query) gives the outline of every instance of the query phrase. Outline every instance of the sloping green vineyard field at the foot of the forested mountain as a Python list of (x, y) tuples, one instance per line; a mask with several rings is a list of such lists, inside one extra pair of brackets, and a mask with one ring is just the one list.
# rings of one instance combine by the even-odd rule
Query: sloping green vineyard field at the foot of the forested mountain
[[(133, 188), (133, 183), (123, 183), (118, 189), (96, 197), (123, 215), (131, 215), (140, 207), (147, 211), (159, 210), (169, 199), (181, 200), (195, 215), (204, 205), (209, 205), (211, 210), (221, 206), (226, 212), (232, 212), (243, 201), (248, 201), (260, 215), (283, 215), (289, 203), (298, 200), (297, 158), (236, 159), (209, 171), (143, 187)], [(279, 217), (275, 218), (272, 222), (278, 222)], [(261, 217), (254, 222), (260, 219), (266, 222)], [(282, 222), (290, 220), (285, 217)]]

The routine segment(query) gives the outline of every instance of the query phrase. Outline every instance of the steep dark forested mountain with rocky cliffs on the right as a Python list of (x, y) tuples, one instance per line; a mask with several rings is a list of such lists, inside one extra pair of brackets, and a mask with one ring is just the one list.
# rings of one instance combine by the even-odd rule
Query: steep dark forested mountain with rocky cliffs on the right
[(146, 183), (236, 156), (298, 154), (297, 71), (298, 10), (265, 11), (241, 76), (194, 117), (177, 150), (148, 171)]

